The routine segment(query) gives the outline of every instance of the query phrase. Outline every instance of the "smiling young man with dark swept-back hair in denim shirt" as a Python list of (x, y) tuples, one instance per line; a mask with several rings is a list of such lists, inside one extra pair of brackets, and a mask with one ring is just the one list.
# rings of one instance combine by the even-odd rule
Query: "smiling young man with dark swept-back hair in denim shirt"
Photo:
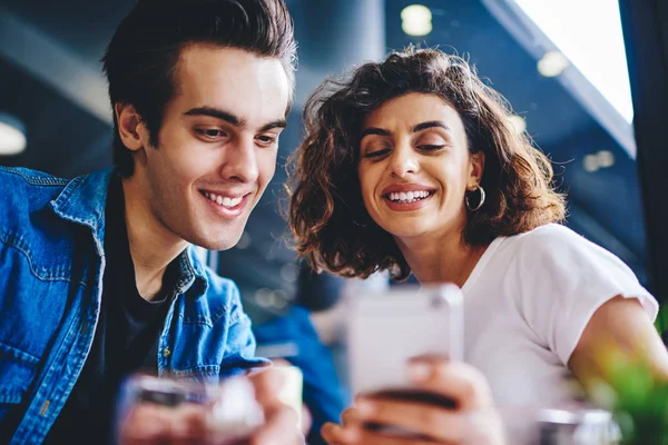
[[(139, 0), (104, 58), (115, 168), (0, 168), (0, 443), (106, 442), (131, 373), (210, 382), (263, 363), (236, 286), (190, 245), (239, 239), (274, 175), (294, 58), (282, 0)], [(262, 374), (254, 441), (299, 443)], [(169, 413), (121, 438), (196, 441), (202, 418)]]

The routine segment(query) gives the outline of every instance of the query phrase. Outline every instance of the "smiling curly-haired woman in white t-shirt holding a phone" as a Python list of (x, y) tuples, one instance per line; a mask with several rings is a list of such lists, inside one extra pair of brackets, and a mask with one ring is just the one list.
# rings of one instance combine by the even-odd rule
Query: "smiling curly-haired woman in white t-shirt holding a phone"
[(616, 256), (559, 224), (550, 161), (511, 116), (464, 60), (431, 49), (363, 65), (307, 101), (289, 184), (298, 254), (346, 277), (412, 273), (464, 294), (466, 364), (406, 364), (455, 408), (361, 395), (343, 425), (323, 428), (328, 443), (464, 443), (473, 419), (479, 443), (502, 443), (494, 406), (568, 406), (562, 375), (605, 378), (593, 357), (608, 339), (668, 376), (657, 301)]

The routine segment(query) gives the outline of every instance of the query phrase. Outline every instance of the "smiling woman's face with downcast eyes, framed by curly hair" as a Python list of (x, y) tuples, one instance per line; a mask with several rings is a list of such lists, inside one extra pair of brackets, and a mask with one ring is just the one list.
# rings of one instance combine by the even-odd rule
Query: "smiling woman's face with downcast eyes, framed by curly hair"
[(464, 192), (480, 182), (484, 155), (469, 154), (464, 125), (436, 95), (412, 92), (369, 113), (357, 172), (373, 220), (397, 238), (463, 230)]

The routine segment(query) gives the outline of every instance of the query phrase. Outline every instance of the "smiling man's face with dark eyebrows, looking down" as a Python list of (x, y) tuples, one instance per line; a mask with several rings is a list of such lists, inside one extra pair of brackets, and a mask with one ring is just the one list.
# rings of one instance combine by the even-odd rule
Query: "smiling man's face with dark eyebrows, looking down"
[(161, 228), (228, 249), (274, 176), (287, 77), (278, 59), (208, 44), (183, 49), (174, 77), (158, 148), (141, 149), (134, 175)]

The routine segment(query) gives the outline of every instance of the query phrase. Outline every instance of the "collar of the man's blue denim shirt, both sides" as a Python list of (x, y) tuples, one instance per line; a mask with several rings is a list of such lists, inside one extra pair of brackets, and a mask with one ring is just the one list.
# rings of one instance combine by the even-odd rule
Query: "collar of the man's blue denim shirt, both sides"
[[(111, 175), (115, 175), (114, 168), (76, 177), (51, 201), (53, 211), (62, 219), (90, 228), (97, 253), (101, 258), (105, 257), (105, 206)], [(195, 248), (188, 245), (177, 260), (179, 261), (177, 290), (185, 293), (195, 284), (195, 295), (206, 294), (208, 279)]]

